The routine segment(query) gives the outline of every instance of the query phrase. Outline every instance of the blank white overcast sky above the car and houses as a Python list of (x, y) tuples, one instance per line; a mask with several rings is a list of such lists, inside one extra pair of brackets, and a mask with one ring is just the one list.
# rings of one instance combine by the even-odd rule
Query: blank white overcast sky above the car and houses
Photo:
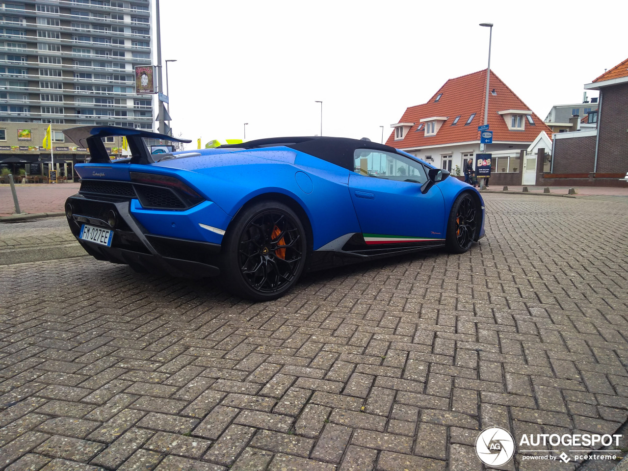
[(607, 0), (161, 0), (172, 126), (188, 149), (241, 139), (245, 122), (247, 139), (317, 135), (322, 100), (324, 136), (379, 142), (384, 126), (385, 141), (406, 107), (486, 68), (483, 22), (491, 70), (544, 119), (628, 57), (626, 13)]

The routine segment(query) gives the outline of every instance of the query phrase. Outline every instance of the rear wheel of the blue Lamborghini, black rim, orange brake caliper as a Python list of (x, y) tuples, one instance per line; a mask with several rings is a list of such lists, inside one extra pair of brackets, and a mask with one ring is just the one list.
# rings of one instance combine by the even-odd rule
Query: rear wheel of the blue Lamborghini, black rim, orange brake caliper
[(290, 207), (274, 200), (254, 203), (225, 234), (222, 284), (250, 300), (277, 299), (303, 273), (306, 242), (303, 224)]

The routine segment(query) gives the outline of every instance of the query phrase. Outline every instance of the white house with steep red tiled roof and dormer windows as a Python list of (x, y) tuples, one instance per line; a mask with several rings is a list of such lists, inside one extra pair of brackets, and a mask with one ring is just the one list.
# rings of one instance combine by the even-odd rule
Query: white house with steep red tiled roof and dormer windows
[[(490, 183), (521, 185), (527, 161), (522, 162), (521, 151), (549, 151), (551, 131), (492, 71), (489, 90), (493, 143), (487, 144), (484, 153), (494, 156), (492, 173), (508, 174), (494, 175), (497, 178), (491, 177)], [(399, 122), (391, 125), (394, 131), (386, 144), (447, 168), (453, 175), (458, 167), (462, 175), (463, 160), (480, 153), (477, 128), (484, 124), (485, 92), (486, 70), (450, 78), (427, 103), (406, 109)], [(530, 148), (533, 143), (536, 148)], [(536, 174), (536, 168), (531, 171)]]

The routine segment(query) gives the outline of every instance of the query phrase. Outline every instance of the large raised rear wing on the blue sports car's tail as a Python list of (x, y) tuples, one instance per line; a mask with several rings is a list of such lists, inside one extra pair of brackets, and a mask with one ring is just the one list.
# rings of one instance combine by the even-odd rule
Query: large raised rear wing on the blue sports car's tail
[(102, 138), (109, 136), (124, 136), (129, 143), (131, 151), (130, 163), (148, 164), (154, 160), (151, 153), (144, 143), (144, 138), (161, 139), (163, 141), (176, 141), (178, 143), (191, 143), (190, 139), (173, 138), (166, 134), (151, 133), (142, 129), (133, 129), (133, 127), (119, 126), (80, 126), (71, 127), (63, 131), (73, 143), (80, 147), (89, 149), (90, 163), (111, 163), (105, 144)]

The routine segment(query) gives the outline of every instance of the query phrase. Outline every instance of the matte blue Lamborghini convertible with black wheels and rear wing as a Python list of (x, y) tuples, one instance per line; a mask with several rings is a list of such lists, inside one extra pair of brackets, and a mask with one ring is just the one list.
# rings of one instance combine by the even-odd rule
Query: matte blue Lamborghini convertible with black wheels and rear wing
[[(88, 147), (75, 167), (68, 224), (92, 256), (174, 276), (219, 276), (252, 300), (290, 290), (304, 271), (446, 247), (484, 236), (484, 202), (447, 170), (362, 139), (258, 139), (149, 154), (126, 127), (63, 131)], [(111, 161), (102, 138), (126, 136)]]

